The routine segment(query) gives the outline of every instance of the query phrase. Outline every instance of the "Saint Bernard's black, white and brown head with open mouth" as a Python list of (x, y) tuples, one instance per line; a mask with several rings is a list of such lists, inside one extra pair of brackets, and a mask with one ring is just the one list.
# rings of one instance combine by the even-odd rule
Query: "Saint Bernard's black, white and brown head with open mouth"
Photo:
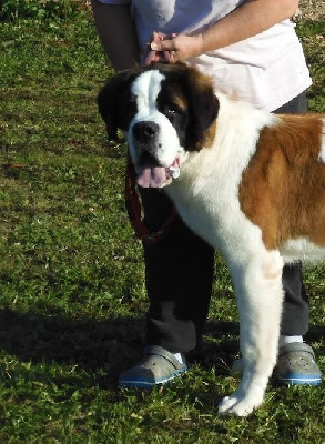
[(214, 135), (219, 101), (209, 78), (185, 64), (153, 64), (120, 72), (100, 91), (99, 111), (110, 140), (128, 133), (142, 186), (164, 186), (190, 151)]

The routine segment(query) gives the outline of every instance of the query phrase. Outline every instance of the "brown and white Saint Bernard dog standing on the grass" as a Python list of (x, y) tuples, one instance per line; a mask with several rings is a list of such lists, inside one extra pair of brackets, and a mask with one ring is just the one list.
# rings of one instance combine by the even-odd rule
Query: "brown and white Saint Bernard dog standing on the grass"
[(164, 188), (227, 262), (244, 370), (220, 412), (245, 416), (276, 363), (283, 265), (325, 256), (325, 115), (256, 110), (185, 64), (118, 73), (98, 101), (110, 139), (128, 135), (138, 184)]

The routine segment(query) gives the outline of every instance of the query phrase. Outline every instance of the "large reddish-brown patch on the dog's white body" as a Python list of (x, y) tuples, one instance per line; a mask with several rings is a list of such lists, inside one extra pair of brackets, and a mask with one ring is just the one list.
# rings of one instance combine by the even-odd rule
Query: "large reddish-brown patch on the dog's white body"
[(278, 118), (277, 124), (262, 130), (243, 173), (242, 210), (262, 229), (270, 250), (301, 236), (325, 246), (325, 164), (318, 159), (322, 117)]

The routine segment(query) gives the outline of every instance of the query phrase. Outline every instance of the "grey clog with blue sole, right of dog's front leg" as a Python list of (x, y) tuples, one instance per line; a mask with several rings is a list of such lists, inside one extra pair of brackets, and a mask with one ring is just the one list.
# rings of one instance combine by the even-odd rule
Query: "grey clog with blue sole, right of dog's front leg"
[(284, 384), (317, 385), (322, 382), (313, 349), (304, 342), (293, 342), (278, 350), (274, 375)]

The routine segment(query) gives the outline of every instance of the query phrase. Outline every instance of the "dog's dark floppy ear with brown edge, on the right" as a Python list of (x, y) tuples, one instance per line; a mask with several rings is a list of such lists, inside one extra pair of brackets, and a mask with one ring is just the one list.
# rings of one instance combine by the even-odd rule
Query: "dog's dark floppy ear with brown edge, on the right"
[(196, 69), (187, 71), (189, 125), (186, 142), (190, 150), (209, 145), (214, 137), (214, 121), (219, 113), (219, 100), (212, 81)]

